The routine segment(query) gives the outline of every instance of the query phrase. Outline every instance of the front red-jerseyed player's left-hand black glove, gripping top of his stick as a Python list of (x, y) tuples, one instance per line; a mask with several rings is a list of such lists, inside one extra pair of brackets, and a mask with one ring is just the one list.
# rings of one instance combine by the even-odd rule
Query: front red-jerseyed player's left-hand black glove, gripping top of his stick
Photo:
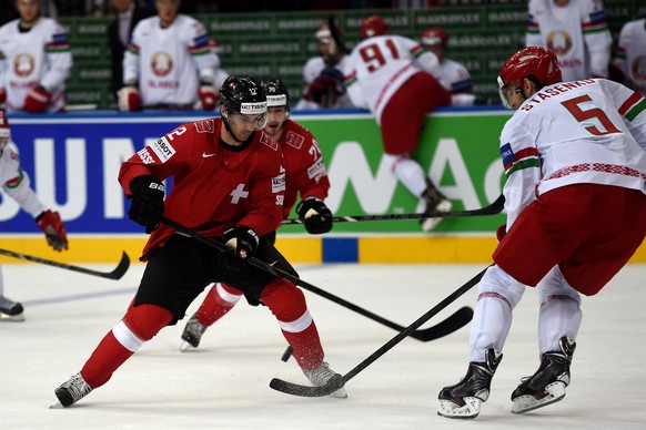
[(128, 216), (145, 227), (145, 233), (154, 232), (164, 214), (164, 184), (154, 176), (137, 176), (130, 182), (132, 205)]

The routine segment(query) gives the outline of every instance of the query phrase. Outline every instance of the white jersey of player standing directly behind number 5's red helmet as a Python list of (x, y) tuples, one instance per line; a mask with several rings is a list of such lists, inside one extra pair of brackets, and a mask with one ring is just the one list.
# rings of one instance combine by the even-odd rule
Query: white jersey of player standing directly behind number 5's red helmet
[(564, 81), (608, 76), (613, 38), (602, 0), (529, 0), (525, 45), (543, 47), (558, 57)]

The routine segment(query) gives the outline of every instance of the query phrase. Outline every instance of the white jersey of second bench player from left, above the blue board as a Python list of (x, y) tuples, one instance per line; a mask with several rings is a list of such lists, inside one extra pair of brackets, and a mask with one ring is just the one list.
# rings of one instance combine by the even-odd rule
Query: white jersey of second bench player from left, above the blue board
[(193, 106), (200, 81), (213, 83), (220, 58), (202, 23), (178, 14), (168, 28), (159, 17), (140, 21), (123, 58), (123, 83), (138, 82), (143, 108)]

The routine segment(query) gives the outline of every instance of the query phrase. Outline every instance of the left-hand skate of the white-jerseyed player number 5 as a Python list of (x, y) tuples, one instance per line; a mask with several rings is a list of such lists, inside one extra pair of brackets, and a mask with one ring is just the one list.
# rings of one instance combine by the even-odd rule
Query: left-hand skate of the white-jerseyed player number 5
[(492, 378), (503, 359), (493, 349), (485, 352), (484, 362), (470, 362), (466, 376), (456, 385), (440, 391), (437, 414), (446, 418), (475, 418), (489, 398)]

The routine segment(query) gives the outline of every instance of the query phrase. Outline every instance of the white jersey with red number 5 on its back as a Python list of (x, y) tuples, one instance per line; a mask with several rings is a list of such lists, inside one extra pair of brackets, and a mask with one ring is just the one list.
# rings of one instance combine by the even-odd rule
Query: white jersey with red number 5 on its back
[(505, 124), (507, 229), (536, 195), (579, 183), (646, 194), (646, 99), (605, 79), (548, 85)]

